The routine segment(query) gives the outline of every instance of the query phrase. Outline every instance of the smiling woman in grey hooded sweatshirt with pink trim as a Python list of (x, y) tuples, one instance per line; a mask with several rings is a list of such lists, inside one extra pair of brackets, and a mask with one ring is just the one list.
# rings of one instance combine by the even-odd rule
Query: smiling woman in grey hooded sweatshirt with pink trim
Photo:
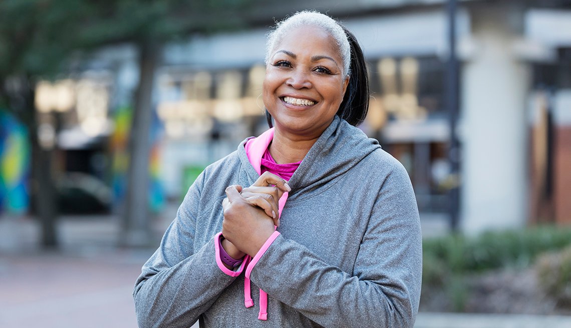
[(402, 165), (353, 126), (368, 100), (359, 45), (305, 11), (269, 35), (266, 64), (275, 127), (188, 190), (136, 282), (139, 325), (412, 327), (418, 210)]

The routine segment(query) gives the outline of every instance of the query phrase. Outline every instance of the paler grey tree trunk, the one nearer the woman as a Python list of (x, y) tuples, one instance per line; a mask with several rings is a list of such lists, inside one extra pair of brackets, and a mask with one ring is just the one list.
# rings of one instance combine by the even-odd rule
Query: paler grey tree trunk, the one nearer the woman
[(130, 133), (130, 164), (127, 176), (127, 203), (121, 243), (140, 247), (152, 244), (148, 205), (150, 188), (150, 129), (152, 120), (152, 87), (160, 47), (154, 42), (139, 44), (139, 86), (135, 94), (135, 110)]

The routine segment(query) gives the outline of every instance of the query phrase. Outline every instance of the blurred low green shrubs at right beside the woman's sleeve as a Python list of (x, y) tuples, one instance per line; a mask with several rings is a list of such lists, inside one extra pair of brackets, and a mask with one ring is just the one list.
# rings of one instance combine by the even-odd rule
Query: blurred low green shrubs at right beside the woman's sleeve
[[(467, 277), (491, 269), (526, 268), (541, 254), (568, 245), (571, 228), (554, 226), (487, 232), (472, 238), (453, 234), (424, 240), (423, 293), (427, 297), (431, 291), (441, 290), (447, 295), (451, 310), (463, 311), (470, 293)], [(571, 246), (564, 254), (557, 261), (543, 260), (540, 268), (546, 290), (561, 302), (571, 302)]]

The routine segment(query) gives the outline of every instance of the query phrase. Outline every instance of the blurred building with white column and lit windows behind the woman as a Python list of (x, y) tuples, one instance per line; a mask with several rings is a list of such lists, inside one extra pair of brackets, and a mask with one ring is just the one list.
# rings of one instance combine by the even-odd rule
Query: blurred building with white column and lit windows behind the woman
[[(459, 121), (451, 125), (446, 1), (293, 1), (260, 7), (251, 27), (191, 35), (168, 44), (153, 94), (158, 172), (179, 197), (201, 167), (267, 125), (260, 98), (266, 33), (273, 19), (302, 9), (336, 17), (363, 47), (371, 106), (361, 128), (407, 168), (421, 220), (448, 224), (459, 189), (459, 226), (468, 233), (528, 222), (570, 222), (571, 5), (568, 1), (460, 1)], [(101, 51), (113, 72), (110, 115), (136, 85), (128, 46)], [(451, 131), (451, 126), (456, 126)], [(457, 136), (459, 151), (449, 153)], [(460, 172), (452, 172), (457, 156)]]

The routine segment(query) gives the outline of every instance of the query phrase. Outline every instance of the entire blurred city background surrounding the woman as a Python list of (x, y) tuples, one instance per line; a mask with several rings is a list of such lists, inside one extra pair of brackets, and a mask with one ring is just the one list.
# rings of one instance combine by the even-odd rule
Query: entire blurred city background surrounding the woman
[[(328, 13), (407, 168), (417, 327), (571, 326), (571, 1), (0, 1), (0, 323), (135, 327), (195, 177), (267, 129), (266, 33)], [(453, 314), (452, 314), (453, 313)]]

